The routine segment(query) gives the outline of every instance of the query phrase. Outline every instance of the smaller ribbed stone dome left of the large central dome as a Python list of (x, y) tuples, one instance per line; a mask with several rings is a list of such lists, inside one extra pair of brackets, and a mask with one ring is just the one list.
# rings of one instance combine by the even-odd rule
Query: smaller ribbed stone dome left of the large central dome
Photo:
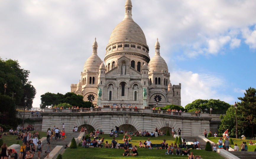
[(101, 63), (102, 63), (101, 58), (98, 57), (97, 53), (93, 52), (93, 54), (86, 60), (83, 71), (86, 71), (86, 70), (98, 71)]

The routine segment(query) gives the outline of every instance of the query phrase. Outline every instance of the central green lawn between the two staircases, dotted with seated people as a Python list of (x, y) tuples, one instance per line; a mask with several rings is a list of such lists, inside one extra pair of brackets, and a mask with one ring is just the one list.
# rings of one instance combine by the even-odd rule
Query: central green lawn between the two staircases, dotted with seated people
[[(108, 143), (111, 143), (111, 140), (113, 138), (110, 138), (108, 134), (100, 135), (100, 137), (104, 137), (105, 141), (108, 141)], [(122, 141), (123, 136), (120, 134), (118, 138), (118, 143), (123, 143)], [(142, 143), (147, 140), (148, 137), (132, 137), (132, 145), (139, 146), (139, 142)], [(171, 144), (174, 143), (175, 138), (172, 136), (158, 136), (158, 138), (150, 138), (150, 141), (153, 144), (160, 144), (163, 142), (163, 139), (166, 139), (166, 143)], [(103, 144), (104, 145), (104, 144)], [(148, 150), (145, 148), (138, 148), (139, 155), (136, 156), (136, 158), (188, 158), (188, 156), (184, 155), (165, 155), (167, 150), (156, 150), (155, 148), (153, 150)], [(218, 153), (216, 152), (208, 152), (205, 150), (191, 150), (191, 152), (194, 152), (195, 155), (201, 155), (204, 159), (212, 159), (212, 158), (220, 158), (223, 159)], [(112, 148), (82, 148), (78, 147), (77, 149), (70, 149), (67, 148), (65, 153), (62, 155), (63, 159), (69, 159), (69, 158), (126, 158), (126, 156), (122, 156), (124, 153), (124, 149), (112, 149)], [(132, 156), (131, 156), (132, 157)], [(130, 158), (130, 157), (129, 157)]]

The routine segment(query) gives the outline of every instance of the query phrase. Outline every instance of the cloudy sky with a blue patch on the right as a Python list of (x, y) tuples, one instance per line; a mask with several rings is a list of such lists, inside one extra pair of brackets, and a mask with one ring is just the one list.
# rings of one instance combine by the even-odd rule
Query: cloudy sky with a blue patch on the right
[[(18, 60), (40, 106), (46, 92), (70, 92), (94, 38), (103, 60), (111, 32), (124, 18), (125, 0), (0, 0), (0, 57)], [(256, 87), (256, 3), (240, 0), (132, 0), (150, 58), (156, 38), (181, 104), (196, 99), (239, 101)]]

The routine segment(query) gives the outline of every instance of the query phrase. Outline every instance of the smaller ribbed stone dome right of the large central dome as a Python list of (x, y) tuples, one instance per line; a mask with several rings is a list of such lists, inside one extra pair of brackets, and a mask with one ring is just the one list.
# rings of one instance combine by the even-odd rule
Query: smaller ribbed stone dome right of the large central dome
[(153, 72), (153, 70), (161, 72), (163, 70), (163, 72), (168, 73), (167, 64), (166, 64), (165, 60), (163, 59), (163, 57), (160, 56), (159, 53), (155, 53), (155, 56), (148, 63), (148, 70), (150, 72)]

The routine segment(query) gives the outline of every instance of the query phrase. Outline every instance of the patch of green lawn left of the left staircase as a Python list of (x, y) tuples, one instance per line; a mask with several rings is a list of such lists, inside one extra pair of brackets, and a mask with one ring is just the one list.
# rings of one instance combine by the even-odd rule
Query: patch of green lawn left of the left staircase
[[(31, 131), (31, 134), (33, 134), (35, 131)], [(39, 131), (40, 138), (46, 137), (46, 132)], [(17, 140), (17, 135), (9, 135), (9, 132), (7, 132), (7, 135), (2, 136), (2, 140), (4, 143), (7, 144), (7, 146), (11, 146), (12, 144), (17, 144), (17, 141), (19, 141), (20, 145), (22, 145), (22, 140)], [(0, 148), (1, 149), (1, 148)]]

